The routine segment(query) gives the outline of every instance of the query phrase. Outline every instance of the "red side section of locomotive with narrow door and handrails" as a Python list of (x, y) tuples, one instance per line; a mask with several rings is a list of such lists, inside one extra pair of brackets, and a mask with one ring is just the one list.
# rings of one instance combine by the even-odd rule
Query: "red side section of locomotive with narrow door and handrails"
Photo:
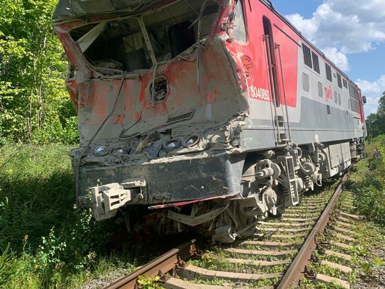
[(249, 47), (258, 68), (248, 78), (249, 95), (259, 101), (254, 106), (251, 102), (251, 118), (259, 124), (269, 118), (276, 141), (283, 141), (290, 137), (290, 123), (300, 118), (296, 111), (300, 37), (262, 2), (248, 4)]

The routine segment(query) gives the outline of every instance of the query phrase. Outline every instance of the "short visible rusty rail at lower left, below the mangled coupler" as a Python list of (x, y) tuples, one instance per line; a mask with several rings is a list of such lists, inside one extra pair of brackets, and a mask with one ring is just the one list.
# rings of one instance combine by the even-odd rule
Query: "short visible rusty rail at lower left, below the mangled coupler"
[(104, 287), (104, 289), (134, 289), (136, 281), (141, 275), (146, 274), (148, 276), (154, 277), (158, 274), (159, 270), (164, 273), (169, 272), (175, 268), (179, 257), (181, 260), (186, 260), (195, 254), (195, 242), (196, 240), (192, 239), (183, 243), (182, 245), (170, 250), (166, 254), (163, 254), (155, 260), (152, 260), (146, 265), (140, 267), (131, 274), (117, 279), (107, 287)]

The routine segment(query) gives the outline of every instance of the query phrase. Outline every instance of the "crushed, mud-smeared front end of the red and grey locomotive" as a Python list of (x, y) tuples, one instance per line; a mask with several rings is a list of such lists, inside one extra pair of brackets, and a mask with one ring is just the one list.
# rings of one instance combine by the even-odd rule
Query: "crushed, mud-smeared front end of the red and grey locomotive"
[(77, 202), (91, 196), (97, 220), (138, 205), (213, 229), (244, 167), (248, 106), (226, 48), (236, 2), (126, 2), (60, 0), (54, 15), (79, 115)]

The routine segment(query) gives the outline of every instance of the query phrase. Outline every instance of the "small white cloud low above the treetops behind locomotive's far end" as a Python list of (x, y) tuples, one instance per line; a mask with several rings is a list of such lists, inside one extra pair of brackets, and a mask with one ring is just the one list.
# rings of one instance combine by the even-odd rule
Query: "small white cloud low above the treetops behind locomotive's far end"
[(364, 107), (365, 115), (377, 112), (378, 101), (385, 91), (385, 75), (380, 76), (377, 81), (357, 79), (355, 83), (361, 88), (362, 95), (366, 96), (367, 104)]

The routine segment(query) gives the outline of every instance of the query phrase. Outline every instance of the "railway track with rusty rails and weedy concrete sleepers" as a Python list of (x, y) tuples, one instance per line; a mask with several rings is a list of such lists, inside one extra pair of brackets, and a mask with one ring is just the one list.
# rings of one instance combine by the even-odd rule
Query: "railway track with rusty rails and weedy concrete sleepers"
[[(347, 178), (347, 174), (343, 176), (334, 192), (305, 196), (281, 218), (260, 221), (258, 233), (248, 240), (206, 252), (197, 250), (196, 240), (191, 240), (104, 289), (140, 289), (137, 278), (144, 274), (159, 276), (166, 289), (296, 288), (299, 281), (334, 283), (349, 289), (351, 257), (344, 250), (353, 240), (354, 232), (348, 228), (359, 217), (334, 210)], [(346, 195), (339, 202), (345, 212), (352, 208), (350, 199)], [(327, 269), (340, 274), (316, 272)]]

